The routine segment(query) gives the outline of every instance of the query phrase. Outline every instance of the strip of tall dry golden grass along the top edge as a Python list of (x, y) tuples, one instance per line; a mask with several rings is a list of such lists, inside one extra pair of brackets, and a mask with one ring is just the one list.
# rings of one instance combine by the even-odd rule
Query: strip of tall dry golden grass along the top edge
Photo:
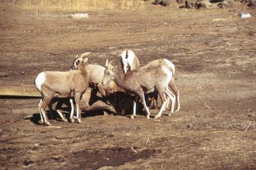
[(19, 6), (34, 11), (143, 10), (140, 0), (18, 0), (0, 1), (0, 6)]

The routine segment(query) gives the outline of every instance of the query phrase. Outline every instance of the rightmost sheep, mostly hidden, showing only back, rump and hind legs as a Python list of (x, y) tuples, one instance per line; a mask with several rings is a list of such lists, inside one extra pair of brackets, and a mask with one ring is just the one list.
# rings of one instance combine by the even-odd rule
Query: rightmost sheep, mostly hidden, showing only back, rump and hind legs
[[(145, 68), (148, 68), (148, 67), (154, 67), (154, 66), (166, 66), (170, 71), (172, 71), (172, 80), (170, 81), (169, 83), (169, 87), (170, 89), (173, 90), (174, 94), (175, 94), (175, 100), (177, 99), (177, 106), (176, 106), (176, 110), (175, 111), (179, 111), (180, 110), (180, 97), (179, 97), (179, 90), (177, 89), (177, 87), (175, 86), (175, 83), (174, 83), (174, 73), (175, 73), (175, 66), (174, 64), (168, 60), (168, 59), (156, 59), (156, 60), (152, 60), (151, 62), (148, 62), (147, 65), (141, 67), (141, 69), (145, 69)], [(166, 103), (166, 106), (168, 107), (168, 104), (169, 104), (169, 99)], [(172, 106), (171, 106), (171, 110), (170, 112), (173, 113), (173, 105), (174, 103), (172, 102)]]

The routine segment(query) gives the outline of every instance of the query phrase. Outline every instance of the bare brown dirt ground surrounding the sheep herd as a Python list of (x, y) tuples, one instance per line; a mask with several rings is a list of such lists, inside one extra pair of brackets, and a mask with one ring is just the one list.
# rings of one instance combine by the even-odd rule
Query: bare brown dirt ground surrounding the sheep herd
[(92, 52), (90, 64), (111, 59), (120, 67), (129, 48), (142, 66), (172, 60), (181, 104), (157, 121), (96, 112), (83, 113), (83, 124), (46, 127), (38, 98), (1, 97), (0, 169), (256, 169), (256, 10), (155, 6), (76, 20), (0, 8), (0, 15), (1, 84), (67, 71), (83, 52)]

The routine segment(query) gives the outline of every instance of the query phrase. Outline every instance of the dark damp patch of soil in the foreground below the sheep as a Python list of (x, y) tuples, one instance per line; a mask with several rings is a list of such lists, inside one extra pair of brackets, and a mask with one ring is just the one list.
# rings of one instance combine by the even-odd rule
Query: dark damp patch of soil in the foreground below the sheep
[[(132, 150), (133, 149), (133, 150)], [(156, 153), (161, 153), (161, 150), (140, 150), (140, 148), (105, 148), (99, 150), (84, 150), (76, 152), (64, 159), (54, 159), (56, 162), (67, 161), (74, 162), (76, 169), (98, 169), (103, 166), (122, 166), (126, 162), (133, 162), (138, 159), (147, 159)]]

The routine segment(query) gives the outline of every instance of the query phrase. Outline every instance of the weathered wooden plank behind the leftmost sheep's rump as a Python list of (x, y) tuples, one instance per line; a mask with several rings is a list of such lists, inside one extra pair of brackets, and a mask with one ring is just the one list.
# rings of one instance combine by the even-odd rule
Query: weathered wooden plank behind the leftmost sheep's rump
[(41, 97), (35, 85), (0, 85), (0, 96)]

